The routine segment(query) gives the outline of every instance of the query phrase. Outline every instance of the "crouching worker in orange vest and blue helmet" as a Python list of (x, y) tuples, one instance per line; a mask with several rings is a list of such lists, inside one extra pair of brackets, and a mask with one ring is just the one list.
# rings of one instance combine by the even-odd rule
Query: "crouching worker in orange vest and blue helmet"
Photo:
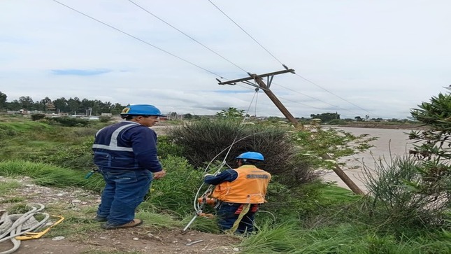
[(271, 174), (255, 165), (264, 161), (261, 153), (246, 152), (236, 157), (237, 169), (226, 169), (214, 176), (206, 174), (204, 182), (216, 185), (211, 197), (217, 206), (218, 225), (222, 232), (244, 234), (254, 231), (254, 216), (265, 201)]

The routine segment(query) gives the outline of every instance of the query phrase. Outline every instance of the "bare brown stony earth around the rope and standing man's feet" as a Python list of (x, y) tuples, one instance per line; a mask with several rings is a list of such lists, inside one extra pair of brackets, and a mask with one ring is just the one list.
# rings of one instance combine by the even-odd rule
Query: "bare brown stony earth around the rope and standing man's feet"
[[(0, 196), (0, 210), (8, 209), (15, 203), (8, 200), (21, 198), (20, 204), (41, 203), (45, 206), (64, 207), (60, 215), (80, 211), (83, 207), (95, 207), (99, 196), (76, 188), (48, 188), (32, 183), (31, 178), (4, 178), (0, 176), (0, 185), (8, 181), (18, 181), (20, 188), (7, 195)], [(19, 194), (19, 195), (18, 195)], [(44, 210), (45, 212), (45, 210)], [(69, 215), (70, 216), (70, 215)], [(83, 215), (82, 215), (83, 216)], [(92, 218), (92, 214), (87, 216)], [(53, 219), (52, 219), (53, 220)], [(52, 221), (54, 222), (54, 221)], [(88, 230), (83, 235), (71, 236), (64, 234), (62, 227), (76, 227), (73, 221), (56, 225), (41, 239), (22, 241), (17, 254), (78, 254), (78, 253), (239, 253), (235, 247), (240, 243), (238, 237), (220, 234), (209, 234), (194, 230), (171, 230), (143, 225), (131, 229), (119, 230)], [(81, 227), (82, 225), (80, 225)], [(62, 232), (62, 234), (59, 234)], [(55, 237), (63, 237), (58, 240)], [(196, 241), (199, 241), (195, 243)], [(193, 243), (192, 245), (187, 245)], [(8, 240), (0, 243), (0, 253), (13, 247)]]

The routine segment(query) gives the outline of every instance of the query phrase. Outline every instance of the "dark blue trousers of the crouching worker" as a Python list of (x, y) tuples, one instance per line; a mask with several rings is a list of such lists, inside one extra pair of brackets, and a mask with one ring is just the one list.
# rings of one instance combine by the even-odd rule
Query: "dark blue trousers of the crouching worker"
[[(222, 232), (225, 230), (230, 230), (231, 227), (233, 227), (235, 221), (238, 219), (238, 216), (240, 216), (240, 209), (242, 209), (242, 207), (242, 204), (221, 202), (220, 206), (217, 207), (217, 225), (220, 227)], [(251, 204), (248, 213), (246, 213), (241, 219), (236, 232), (239, 234), (244, 234), (254, 231), (254, 217), (257, 209), (258, 204)]]

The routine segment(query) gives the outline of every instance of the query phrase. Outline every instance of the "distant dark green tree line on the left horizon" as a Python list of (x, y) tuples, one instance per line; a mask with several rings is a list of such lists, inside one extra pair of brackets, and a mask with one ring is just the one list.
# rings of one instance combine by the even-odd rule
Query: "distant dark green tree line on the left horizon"
[(98, 99), (79, 99), (78, 97), (71, 97), (66, 99), (61, 97), (52, 100), (45, 97), (39, 101), (33, 101), (29, 96), (22, 96), (18, 100), (6, 101), (8, 96), (0, 92), (0, 111), (41, 111), (44, 113), (72, 113), (72, 114), (87, 114), (100, 115), (101, 113), (111, 113), (118, 115), (126, 106), (121, 104), (113, 104), (110, 101), (103, 102)]

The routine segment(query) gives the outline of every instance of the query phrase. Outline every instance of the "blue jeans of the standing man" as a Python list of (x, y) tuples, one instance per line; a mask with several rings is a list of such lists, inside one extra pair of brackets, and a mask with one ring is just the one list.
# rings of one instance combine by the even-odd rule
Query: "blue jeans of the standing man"
[(152, 172), (99, 168), (106, 186), (103, 189), (97, 216), (108, 224), (122, 225), (135, 218), (135, 209), (148, 193)]

